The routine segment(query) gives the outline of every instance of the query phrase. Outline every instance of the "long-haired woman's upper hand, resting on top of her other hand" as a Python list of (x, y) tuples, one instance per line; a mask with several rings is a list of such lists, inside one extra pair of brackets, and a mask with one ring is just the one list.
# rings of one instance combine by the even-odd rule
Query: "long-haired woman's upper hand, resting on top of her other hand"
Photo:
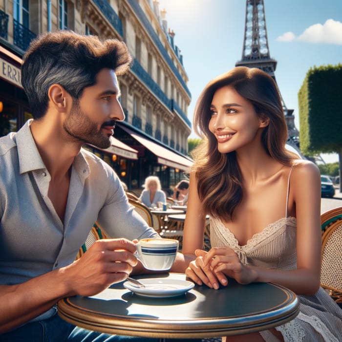
[[(202, 261), (203, 268), (210, 268), (218, 279), (220, 275), (226, 275), (240, 284), (256, 281), (256, 271), (252, 267), (245, 266), (235, 251), (229, 247), (212, 248)], [(222, 279), (220, 282), (222, 283)]]

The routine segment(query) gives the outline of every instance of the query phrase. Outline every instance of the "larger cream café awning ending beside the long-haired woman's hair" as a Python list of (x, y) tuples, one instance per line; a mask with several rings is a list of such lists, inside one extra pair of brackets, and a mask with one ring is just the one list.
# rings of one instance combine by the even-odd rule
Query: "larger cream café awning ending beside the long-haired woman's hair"
[(123, 125), (120, 125), (120, 128), (124, 129), (132, 138), (156, 155), (159, 164), (180, 170), (187, 170), (192, 166), (193, 162), (188, 158), (182, 157), (181, 155), (166, 149)]

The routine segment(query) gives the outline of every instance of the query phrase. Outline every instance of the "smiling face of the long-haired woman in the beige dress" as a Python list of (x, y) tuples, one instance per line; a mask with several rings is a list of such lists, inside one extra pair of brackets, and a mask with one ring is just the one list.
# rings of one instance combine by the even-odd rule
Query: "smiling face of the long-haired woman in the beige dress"
[(221, 153), (250, 146), (259, 139), (259, 129), (267, 126), (253, 105), (228, 85), (215, 91), (210, 111), (209, 130), (216, 137)]

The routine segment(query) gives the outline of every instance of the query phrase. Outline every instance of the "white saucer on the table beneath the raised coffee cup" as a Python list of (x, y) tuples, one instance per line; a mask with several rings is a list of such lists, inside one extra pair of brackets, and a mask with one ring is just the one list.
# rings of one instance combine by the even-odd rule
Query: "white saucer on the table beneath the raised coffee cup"
[(191, 290), (195, 285), (188, 280), (177, 280), (168, 278), (146, 278), (139, 279), (146, 287), (136, 287), (129, 281), (124, 282), (124, 287), (139, 296), (144, 297), (175, 297)]

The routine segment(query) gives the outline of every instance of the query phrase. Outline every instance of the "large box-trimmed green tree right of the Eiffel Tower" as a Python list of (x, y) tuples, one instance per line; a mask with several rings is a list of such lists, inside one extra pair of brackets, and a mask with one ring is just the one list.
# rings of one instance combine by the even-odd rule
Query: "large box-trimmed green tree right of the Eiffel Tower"
[[(342, 64), (310, 68), (298, 92), (304, 154), (337, 152), (342, 173)], [(342, 191), (342, 184), (340, 184)]]

